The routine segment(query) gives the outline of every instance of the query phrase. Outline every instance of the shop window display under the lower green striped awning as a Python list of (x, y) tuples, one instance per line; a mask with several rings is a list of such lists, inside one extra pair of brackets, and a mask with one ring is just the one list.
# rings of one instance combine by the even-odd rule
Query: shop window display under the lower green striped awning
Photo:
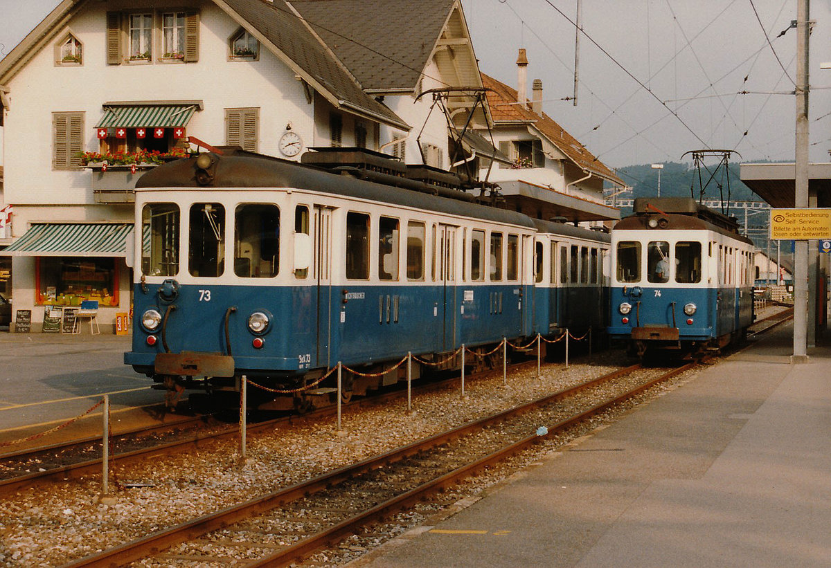
[(115, 258), (38, 257), (36, 266), (39, 306), (118, 306)]

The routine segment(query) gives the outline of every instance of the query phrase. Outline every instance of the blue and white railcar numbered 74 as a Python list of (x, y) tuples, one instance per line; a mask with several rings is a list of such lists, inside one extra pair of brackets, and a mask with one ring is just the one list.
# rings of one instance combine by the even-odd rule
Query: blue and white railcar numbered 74
[(691, 198), (638, 198), (612, 229), (612, 339), (647, 350), (720, 348), (753, 323), (754, 245)]

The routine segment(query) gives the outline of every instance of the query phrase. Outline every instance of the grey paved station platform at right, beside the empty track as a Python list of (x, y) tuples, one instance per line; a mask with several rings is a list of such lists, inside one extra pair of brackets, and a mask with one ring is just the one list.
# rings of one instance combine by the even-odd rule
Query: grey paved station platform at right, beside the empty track
[(347, 566), (831, 566), (831, 350), (793, 325)]

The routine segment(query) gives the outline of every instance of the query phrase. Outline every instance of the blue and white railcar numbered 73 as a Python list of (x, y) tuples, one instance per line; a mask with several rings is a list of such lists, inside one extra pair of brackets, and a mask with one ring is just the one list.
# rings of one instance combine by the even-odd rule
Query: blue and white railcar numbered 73
[(545, 335), (527, 301), (534, 223), (456, 197), (229, 149), (151, 170), (135, 189), (125, 363), (171, 389), (235, 391), (241, 375), (292, 389), (338, 361), (380, 370)]

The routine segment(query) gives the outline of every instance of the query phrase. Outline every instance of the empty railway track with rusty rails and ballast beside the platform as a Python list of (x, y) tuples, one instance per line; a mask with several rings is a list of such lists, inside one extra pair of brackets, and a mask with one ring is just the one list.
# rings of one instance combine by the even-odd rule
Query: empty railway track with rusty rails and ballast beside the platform
[[(695, 365), (669, 371), (632, 365), (66, 566), (115, 566), (141, 559), (155, 559), (160, 566), (175, 561), (286, 566)], [(644, 374), (646, 379), (624, 379)], [(559, 409), (564, 399), (610, 383), (617, 384), (611, 398), (583, 404), (578, 412)], [(539, 429), (545, 424), (547, 429)]]

